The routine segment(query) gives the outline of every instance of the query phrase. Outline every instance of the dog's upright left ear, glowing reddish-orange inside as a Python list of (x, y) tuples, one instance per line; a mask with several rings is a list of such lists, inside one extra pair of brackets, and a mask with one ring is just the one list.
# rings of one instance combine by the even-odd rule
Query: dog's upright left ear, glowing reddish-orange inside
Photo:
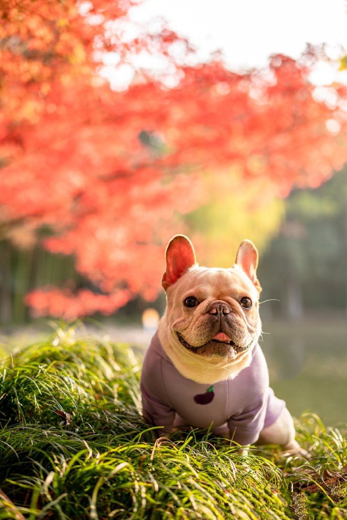
[(189, 267), (196, 263), (196, 259), (193, 244), (184, 235), (176, 235), (170, 240), (165, 255), (166, 271), (161, 284), (166, 291), (170, 285), (185, 274)]

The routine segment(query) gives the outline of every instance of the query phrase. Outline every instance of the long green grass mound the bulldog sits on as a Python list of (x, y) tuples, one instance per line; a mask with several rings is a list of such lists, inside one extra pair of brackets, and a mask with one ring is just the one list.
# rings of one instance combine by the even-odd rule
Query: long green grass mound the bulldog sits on
[(139, 372), (127, 345), (69, 327), (4, 359), (0, 519), (347, 518), (346, 431), (302, 418), (310, 462), (199, 432), (159, 444)]

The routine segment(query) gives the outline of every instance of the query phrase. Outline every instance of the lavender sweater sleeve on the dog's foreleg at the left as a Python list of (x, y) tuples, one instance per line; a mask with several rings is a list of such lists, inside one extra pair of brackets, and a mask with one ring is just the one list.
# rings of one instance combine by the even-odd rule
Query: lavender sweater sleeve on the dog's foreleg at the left
[[(175, 417), (162, 377), (162, 359), (148, 350), (141, 374), (142, 410), (145, 421), (170, 433)], [(160, 432), (162, 433), (162, 432)]]

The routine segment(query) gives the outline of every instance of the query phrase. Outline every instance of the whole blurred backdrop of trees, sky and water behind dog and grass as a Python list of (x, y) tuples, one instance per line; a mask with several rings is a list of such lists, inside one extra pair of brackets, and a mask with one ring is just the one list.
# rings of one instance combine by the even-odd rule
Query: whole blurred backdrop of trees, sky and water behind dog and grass
[(275, 392), (347, 421), (345, 9), (2, 4), (5, 350), (76, 318), (143, 348), (172, 235), (222, 267), (249, 238)]

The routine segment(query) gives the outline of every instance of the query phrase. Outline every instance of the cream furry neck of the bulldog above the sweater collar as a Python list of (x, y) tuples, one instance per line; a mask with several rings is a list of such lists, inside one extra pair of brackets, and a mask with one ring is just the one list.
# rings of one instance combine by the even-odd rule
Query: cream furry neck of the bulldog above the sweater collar
[(255, 337), (251, 348), (237, 360), (221, 359), (220, 357), (209, 360), (200, 358), (178, 341), (176, 333), (166, 323), (165, 316), (159, 323), (158, 339), (165, 354), (178, 372), (187, 379), (203, 384), (234, 379), (241, 370), (250, 365), (253, 349), (258, 343), (258, 337)]

